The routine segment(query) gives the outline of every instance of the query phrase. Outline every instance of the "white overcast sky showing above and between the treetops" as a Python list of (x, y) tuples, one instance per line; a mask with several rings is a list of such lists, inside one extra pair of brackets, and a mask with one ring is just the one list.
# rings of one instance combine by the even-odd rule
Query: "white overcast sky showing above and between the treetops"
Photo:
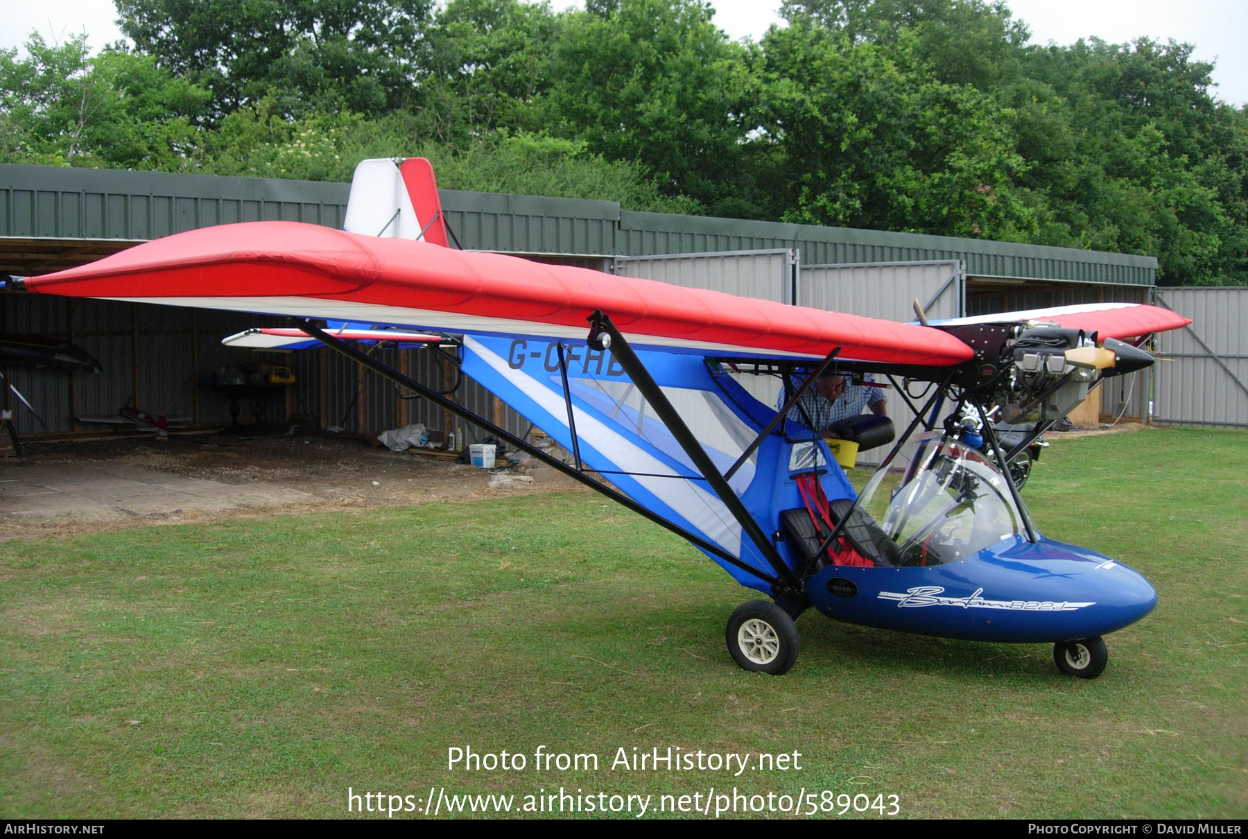
[[(1219, 99), (1248, 102), (1248, 1), (1246, 0), (1007, 0), (1016, 17), (1031, 26), (1038, 44), (1072, 44), (1096, 35), (1123, 42), (1147, 35), (1196, 45), (1196, 57), (1217, 60), (1213, 80)], [(554, 0), (557, 9), (579, 2)], [(779, 22), (780, 0), (711, 0), (715, 22), (731, 37), (758, 40)], [(86, 31), (99, 49), (121, 37), (112, 0), (0, 0), (0, 47), (19, 46), (31, 30), (45, 39)]]

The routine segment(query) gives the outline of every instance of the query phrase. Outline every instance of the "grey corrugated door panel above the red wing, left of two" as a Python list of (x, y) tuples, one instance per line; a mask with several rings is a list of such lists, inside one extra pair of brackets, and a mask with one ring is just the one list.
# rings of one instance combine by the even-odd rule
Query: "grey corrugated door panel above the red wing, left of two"
[(787, 248), (739, 253), (678, 253), (615, 257), (614, 272), (685, 288), (713, 288), (740, 297), (791, 303), (797, 255)]

